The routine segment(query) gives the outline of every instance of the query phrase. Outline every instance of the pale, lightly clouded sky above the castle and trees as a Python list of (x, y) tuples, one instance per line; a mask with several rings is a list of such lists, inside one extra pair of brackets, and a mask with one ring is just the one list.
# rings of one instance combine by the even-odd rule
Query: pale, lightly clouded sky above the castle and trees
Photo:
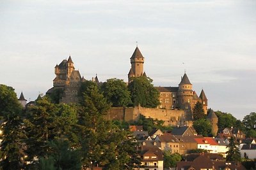
[(256, 111), (254, 0), (1, 0), (0, 23), (0, 83), (28, 101), (69, 55), (87, 80), (127, 81), (138, 44), (155, 86), (177, 87), (186, 70), (209, 108)]

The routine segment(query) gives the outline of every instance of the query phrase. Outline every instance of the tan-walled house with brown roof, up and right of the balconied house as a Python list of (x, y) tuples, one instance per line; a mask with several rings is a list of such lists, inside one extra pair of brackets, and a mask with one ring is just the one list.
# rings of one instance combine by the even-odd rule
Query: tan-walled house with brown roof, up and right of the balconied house
[(156, 141), (161, 142), (161, 150), (170, 150), (171, 153), (179, 153), (180, 143), (172, 134), (163, 134), (162, 136), (157, 136)]

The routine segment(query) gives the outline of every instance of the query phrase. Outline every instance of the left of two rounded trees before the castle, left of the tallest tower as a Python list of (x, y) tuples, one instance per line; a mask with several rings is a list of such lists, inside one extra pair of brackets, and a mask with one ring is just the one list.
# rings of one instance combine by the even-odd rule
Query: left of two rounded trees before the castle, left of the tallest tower
[(130, 92), (124, 80), (117, 78), (108, 79), (103, 83), (101, 90), (104, 97), (112, 103), (113, 107), (125, 107), (131, 104)]

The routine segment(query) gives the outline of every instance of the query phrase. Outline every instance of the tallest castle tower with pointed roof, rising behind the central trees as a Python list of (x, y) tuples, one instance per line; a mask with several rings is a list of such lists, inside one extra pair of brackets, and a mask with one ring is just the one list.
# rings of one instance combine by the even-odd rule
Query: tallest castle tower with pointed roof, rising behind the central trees
[(131, 81), (131, 77), (139, 77), (146, 75), (145, 72), (143, 72), (143, 64), (144, 64), (144, 57), (141, 54), (138, 46), (136, 46), (131, 59), (131, 69), (128, 73), (128, 80)]

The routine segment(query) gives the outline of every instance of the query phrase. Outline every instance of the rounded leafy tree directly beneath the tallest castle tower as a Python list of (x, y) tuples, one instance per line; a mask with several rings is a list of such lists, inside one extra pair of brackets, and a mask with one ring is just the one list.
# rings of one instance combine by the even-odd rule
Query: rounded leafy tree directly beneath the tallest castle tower
[(131, 92), (131, 100), (133, 106), (139, 104), (145, 108), (156, 108), (159, 103), (159, 91), (154, 88), (152, 79), (140, 76), (132, 78), (131, 83), (128, 85)]

